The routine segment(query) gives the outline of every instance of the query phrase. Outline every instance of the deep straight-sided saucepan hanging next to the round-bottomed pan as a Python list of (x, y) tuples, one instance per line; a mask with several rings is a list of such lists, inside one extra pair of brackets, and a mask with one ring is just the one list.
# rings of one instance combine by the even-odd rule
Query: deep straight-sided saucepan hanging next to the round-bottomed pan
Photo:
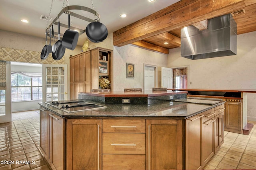
[(62, 37), (62, 46), (74, 50), (78, 41), (78, 32), (70, 29), (70, 14), (68, 14), (68, 29)]

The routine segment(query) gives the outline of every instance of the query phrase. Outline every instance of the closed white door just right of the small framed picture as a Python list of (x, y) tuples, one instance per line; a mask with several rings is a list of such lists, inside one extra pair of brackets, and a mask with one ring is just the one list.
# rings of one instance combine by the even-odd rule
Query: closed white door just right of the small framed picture
[(144, 90), (155, 87), (155, 67), (144, 66)]

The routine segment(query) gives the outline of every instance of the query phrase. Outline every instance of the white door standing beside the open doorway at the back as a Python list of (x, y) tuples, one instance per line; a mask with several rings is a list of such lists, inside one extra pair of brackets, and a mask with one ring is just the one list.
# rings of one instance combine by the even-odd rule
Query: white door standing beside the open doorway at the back
[(172, 88), (172, 68), (161, 67), (161, 87)]

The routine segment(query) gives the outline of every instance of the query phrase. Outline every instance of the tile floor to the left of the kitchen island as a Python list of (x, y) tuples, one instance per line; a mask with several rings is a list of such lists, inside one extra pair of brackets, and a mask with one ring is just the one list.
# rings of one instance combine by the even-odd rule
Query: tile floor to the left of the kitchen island
[(0, 170), (50, 170), (39, 149), (39, 133), (38, 110), (12, 113), (12, 122), (1, 123), (0, 160), (14, 162), (1, 162)]

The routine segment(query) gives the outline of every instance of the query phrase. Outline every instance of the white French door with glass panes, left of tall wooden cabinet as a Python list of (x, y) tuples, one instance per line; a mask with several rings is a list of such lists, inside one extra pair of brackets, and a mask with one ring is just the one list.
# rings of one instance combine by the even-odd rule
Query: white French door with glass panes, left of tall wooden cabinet
[(43, 101), (68, 100), (67, 64), (43, 64)]

